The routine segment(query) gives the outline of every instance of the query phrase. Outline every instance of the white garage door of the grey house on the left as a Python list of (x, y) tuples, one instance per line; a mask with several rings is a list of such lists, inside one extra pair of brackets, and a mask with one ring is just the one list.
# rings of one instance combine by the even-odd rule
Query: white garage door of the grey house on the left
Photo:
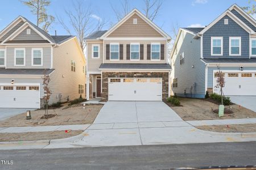
[(40, 108), (40, 87), (1, 85), (0, 108)]

